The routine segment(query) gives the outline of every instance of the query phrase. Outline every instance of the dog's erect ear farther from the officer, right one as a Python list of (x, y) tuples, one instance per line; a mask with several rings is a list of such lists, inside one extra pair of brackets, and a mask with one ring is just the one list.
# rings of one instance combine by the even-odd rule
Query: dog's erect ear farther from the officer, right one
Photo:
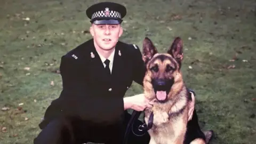
[(174, 39), (167, 53), (171, 54), (178, 62), (181, 62), (183, 59), (183, 42), (180, 37)]

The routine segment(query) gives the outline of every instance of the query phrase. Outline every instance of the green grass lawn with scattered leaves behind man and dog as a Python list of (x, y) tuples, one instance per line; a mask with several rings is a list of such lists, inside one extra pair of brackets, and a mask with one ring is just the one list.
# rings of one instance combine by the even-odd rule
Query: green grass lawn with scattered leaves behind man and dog
[[(202, 129), (215, 132), (211, 143), (255, 143), (254, 1), (113, 2), (127, 7), (122, 41), (141, 49), (143, 38), (148, 36), (160, 52), (166, 52), (174, 37), (183, 39), (182, 73), (188, 87), (196, 92)], [(61, 77), (54, 73), (61, 55), (91, 38), (82, 31), (90, 27), (85, 10), (93, 3), (0, 2), (0, 108), (10, 107), (0, 111), (1, 144), (33, 143), (45, 109), (61, 92)], [(22, 20), (26, 17), (30, 20)], [(229, 61), (236, 53), (238, 59)], [(227, 69), (230, 65), (235, 68)], [(125, 96), (141, 92), (142, 87), (134, 83)], [(26, 113), (16, 110), (19, 103)]]

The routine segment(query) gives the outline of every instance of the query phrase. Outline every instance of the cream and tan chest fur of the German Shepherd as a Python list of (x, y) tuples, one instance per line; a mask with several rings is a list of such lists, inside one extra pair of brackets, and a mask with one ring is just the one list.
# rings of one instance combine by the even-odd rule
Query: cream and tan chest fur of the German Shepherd
[(180, 98), (175, 103), (159, 103), (152, 109), (145, 110), (147, 125), (152, 111), (154, 114), (153, 127), (148, 131), (151, 137), (150, 144), (183, 143), (188, 119), (188, 100), (182, 94), (179, 94)]

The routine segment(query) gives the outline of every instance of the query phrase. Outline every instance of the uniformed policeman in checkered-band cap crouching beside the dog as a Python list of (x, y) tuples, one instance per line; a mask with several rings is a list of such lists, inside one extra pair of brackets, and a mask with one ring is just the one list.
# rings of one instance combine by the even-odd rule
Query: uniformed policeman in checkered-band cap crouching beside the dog
[[(143, 94), (123, 98), (133, 81), (142, 85), (146, 70), (139, 47), (118, 41), (125, 7), (103, 2), (90, 6), (86, 14), (93, 38), (62, 56), (63, 90), (46, 109), (35, 144), (120, 144), (131, 117), (127, 109), (152, 107)], [(190, 117), (193, 110), (194, 103)], [(136, 119), (134, 123), (142, 122)], [(148, 133), (131, 135), (129, 143), (143, 144), (149, 139)]]

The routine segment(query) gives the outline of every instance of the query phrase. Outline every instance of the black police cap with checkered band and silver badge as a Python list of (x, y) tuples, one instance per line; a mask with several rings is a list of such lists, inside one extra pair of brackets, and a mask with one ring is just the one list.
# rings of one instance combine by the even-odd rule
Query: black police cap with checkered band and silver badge
[(95, 25), (116, 25), (122, 23), (126, 8), (118, 3), (101, 2), (88, 7), (86, 15)]

